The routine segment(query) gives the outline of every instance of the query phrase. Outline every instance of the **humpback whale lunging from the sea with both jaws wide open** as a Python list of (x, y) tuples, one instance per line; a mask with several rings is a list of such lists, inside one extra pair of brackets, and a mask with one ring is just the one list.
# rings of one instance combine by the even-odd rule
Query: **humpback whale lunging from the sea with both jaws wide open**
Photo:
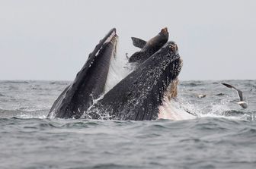
[(173, 93), (177, 95), (174, 86), (177, 86), (182, 59), (176, 43), (165, 43), (158, 52), (102, 95), (110, 60), (115, 55), (117, 37), (113, 29), (101, 39), (75, 80), (53, 103), (48, 117), (115, 120), (158, 118), (164, 97), (173, 97)]

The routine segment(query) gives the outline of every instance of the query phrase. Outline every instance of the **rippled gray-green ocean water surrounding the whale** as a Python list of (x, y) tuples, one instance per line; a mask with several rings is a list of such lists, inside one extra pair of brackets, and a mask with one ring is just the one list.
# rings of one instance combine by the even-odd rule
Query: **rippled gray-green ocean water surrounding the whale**
[(47, 119), (69, 83), (0, 81), (0, 168), (256, 168), (256, 80), (181, 81), (190, 120)]

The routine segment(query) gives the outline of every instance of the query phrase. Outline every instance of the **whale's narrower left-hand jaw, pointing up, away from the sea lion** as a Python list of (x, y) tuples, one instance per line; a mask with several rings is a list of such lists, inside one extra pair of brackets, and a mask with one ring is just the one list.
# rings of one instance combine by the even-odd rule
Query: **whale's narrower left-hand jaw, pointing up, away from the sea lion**
[(110, 67), (110, 59), (116, 53), (118, 36), (116, 29), (101, 39), (88, 56), (71, 85), (53, 103), (48, 117), (79, 118), (103, 92)]

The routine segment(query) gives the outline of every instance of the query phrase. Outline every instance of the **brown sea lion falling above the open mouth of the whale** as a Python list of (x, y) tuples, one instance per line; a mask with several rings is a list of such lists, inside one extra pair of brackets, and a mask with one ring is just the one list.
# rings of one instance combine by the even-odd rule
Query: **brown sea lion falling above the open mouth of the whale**
[(140, 48), (139, 52), (135, 52), (130, 58), (129, 62), (139, 63), (146, 61), (151, 55), (157, 52), (159, 49), (162, 48), (163, 45), (168, 41), (169, 33), (167, 27), (163, 28), (157, 36), (150, 39), (148, 42), (132, 37), (133, 45)]

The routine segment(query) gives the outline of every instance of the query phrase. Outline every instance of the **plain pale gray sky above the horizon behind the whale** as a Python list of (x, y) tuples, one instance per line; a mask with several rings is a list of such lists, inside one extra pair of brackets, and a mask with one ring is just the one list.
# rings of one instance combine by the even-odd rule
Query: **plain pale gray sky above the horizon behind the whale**
[(168, 27), (181, 80), (255, 79), (255, 9), (253, 0), (0, 0), (0, 80), (73, 80), (112, 27), (119, 57), (139, 50), (130, 36)]

